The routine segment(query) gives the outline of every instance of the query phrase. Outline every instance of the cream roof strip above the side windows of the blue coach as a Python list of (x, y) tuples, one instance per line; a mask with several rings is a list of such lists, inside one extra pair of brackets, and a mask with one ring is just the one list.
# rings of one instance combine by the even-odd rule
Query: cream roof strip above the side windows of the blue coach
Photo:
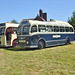
[(29, 20), (29, 23), (31, 25), (52, 25), (52, 26), (72, 27), (72, 25), (70, 25), (69, 23), (62, 22), (62, 21), (49, 21), (49, 22), (45, 22), (45, 21)]

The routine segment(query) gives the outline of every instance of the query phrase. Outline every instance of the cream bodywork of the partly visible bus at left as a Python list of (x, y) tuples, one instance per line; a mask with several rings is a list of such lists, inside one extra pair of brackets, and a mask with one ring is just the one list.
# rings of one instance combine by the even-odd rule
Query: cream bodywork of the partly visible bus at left
[[(8, 27), (18, 27), (19, 24), (15, 24), (15, 23), (10, 23), (10, 22), (6, 22), (5, 23), (5, 26), (0, 26), (0, 27), (5, 27), (5, 31)], [(0, 35), (1, 39), (1, 46), (12, 46), (12, 43), (13, 43), (13, 40), (14, 39), (17, 39), (17, 34), (11, 34), (11, 44), (10, 45), (7, 45), (7, 42), (6, 42), (6, 35)]]

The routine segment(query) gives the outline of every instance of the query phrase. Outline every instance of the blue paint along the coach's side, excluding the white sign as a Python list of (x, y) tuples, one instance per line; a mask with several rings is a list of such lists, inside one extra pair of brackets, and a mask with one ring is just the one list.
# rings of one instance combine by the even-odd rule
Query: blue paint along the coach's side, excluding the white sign
[[(48, 45), (63, 44), (66, 42), (66, 37), (69, 37), (70, 41), (74, 41), (74, 34), (38, 34), (38, 35), (40, 35), (38, 40), (44, 39), (46, 44)], [(31, 36), (31, 39), (38, 37), (38, 35)], [(61, 37), (53, 38), (53, 35), (60, 35)]]

